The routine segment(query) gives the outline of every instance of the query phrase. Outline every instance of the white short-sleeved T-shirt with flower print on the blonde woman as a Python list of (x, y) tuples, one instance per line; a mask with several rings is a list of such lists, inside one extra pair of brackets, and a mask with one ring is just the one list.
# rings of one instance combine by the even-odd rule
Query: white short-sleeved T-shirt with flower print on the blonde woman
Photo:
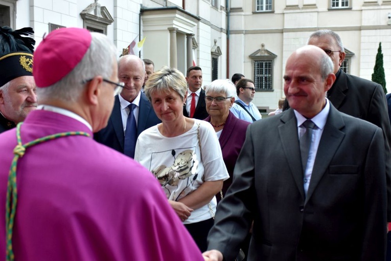
[[(202, 161), (197, 138), (198, 125)], [(210, 123), (197, 119), (188, 132), (172, 138), (160, 134), (157, 125), (144, 130), (137, 139), (134, 160), (153, 173), (162, 184), (167, 199), (174, 201), (196, 190), (203, 181), (229, 178), (215, 130)], [(210, 203), (213, 213), (216, 213), (216, 198)], [(211, 217), (211, 210), (206, 204), (195, 209), (183, 224)]]

